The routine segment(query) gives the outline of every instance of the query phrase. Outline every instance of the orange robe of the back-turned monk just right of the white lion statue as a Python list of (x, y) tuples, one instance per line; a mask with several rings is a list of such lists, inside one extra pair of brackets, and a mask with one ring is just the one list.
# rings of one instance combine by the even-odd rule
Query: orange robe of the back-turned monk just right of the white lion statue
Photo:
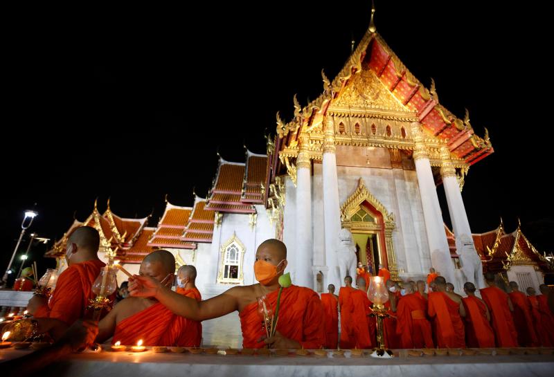
[(496, 286), (482, 288), (480, 291), (490, 311), (497, 347), (517, 347), (517, 331), (508, 306), (508, 293)]

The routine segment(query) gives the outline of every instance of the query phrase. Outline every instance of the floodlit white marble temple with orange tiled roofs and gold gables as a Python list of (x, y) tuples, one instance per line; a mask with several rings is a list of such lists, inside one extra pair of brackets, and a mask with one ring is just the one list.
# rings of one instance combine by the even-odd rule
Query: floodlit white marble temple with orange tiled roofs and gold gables
[[(94, 226), (103, 259), (118, 259), (136, 273), (144, 255), (164, 248), (177, 264), (198, 267), (206, 297), (233, 284), (253, 284), (256, 248), (268, 238), (287, 244), (294, 284), (323, 291), (341, 286), (339, 231), (346, 228), (356, 259), (393, 279), (422, 278), (432, 266), (461, 291), (483, 286), (484, 270), (520, 286), (542, 284), (553, 270), (518, 227), (473, 234), (462, 189), (472, 165), (494, 152), (485, 129), (474, 131), (469, 113), (458, 118), (402, 64), (373, 23), (333, 80), (321, 71), (323, 91), (294, 117), (276, 117), (265, 154), (246, 150), (244, 161), (221, 156), (206, 199), (192, 207), (166, 201), (156, 228), (148, 217), (123, 219), (93, 212), (74, 221), (48, 257), (61, 260), (78, 226)], [(442, 188), (440, 186), (442, 185)], [(445, 190), (452, 230), (443, 222), (436, 190)], [(60, 266), (63, 268), (63, 266)], [(346, 270), (350, 275), (354, 270)], [(126, 278), (121, 276), (122, 280)]]

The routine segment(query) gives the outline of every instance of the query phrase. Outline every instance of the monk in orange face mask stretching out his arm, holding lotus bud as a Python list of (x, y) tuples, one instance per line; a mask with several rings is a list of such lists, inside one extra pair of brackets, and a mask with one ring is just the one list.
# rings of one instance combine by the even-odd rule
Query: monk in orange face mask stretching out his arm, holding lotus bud
[(287, 268), (287, 247), (278, 239), (268, 239), (258, 246), (254, 275), (259, 284), (234, 286), (209, 300), (196, 301), (179, 295), (159, 280), (149, 276), (129, 278), (132, 297), (154, 297), (177, 315), (195, 321), (218, 318), (238, 311), (242, 327), (242, 347), (277, 349), (319, 349), (325, 344), (323, 305), (310, 288), (291, 285), (280, 297), (278, 324), (269, 338), (258, 314), (258, 297), (265, 297), (267, 306), (275, 310), (279, 277)]

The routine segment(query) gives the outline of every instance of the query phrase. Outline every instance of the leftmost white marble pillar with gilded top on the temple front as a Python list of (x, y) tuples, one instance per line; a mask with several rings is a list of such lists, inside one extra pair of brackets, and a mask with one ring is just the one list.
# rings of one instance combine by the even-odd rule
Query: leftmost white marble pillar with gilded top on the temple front
[(312, 166), (307, 136), (301, 137), (296, 158), (296, 282), (314, 288), (312, 279)]

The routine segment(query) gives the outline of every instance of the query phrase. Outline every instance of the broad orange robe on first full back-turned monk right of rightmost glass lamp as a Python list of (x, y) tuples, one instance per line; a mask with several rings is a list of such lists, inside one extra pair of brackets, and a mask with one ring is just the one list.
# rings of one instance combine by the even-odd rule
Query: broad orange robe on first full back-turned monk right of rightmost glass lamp
[(396, 309), (396, 333), (401, 348), (434, 348), (431, 323), (427, 320), (427, 305), (413, 293), (405, 295)]

